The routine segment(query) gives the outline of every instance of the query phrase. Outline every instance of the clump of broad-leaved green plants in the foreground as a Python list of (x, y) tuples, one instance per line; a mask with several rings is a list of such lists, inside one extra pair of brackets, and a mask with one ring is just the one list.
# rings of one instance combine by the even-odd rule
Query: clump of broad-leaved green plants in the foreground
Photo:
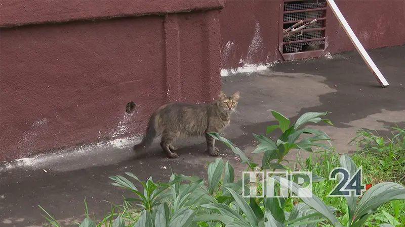
[[(234, 146), (228, 139), (219, 136), (217, 133), (209, 133), (212, 137), (226, 144), (247, 164), (251, 171), (274, 171), (284, 169), (290, 171), (289, 163), (285, 157), (293, 149), (304, 150), (314, 154), (315, 147), (321, 148), (325, 154), (333, 153), (329, 136), (321, 131), (305, 128), (308, 123), (324, 122), (333, 125), (329, 120), (322, 119), (328, 112), (308, 112), (304, 113), (298, 120), (291, 124), (291, 120), (280, 113), (271, 110), (278, 125), (269, 126), (266, 135), (253, 136), (259, 141), (254, 154), (263, 153), (261, 164), (253, 162), (238, 147)], [(274, 141), (267, 137), (272, 131), (281, 130), (281, 136)], [(399, 137), (399, 136), (397, 136)], [(380, 141), (381, 144), (381, 141)], [(325, 156), (326, 157), (326, 156)], [(331, 156), (334, 157), (334, 156)], [(329, 160), (324, 163), (329, 165)], [(339, 158), (340, 166), (345, 167), (351, 174), (357, 170), (357, 166), (349, 155), (343, 154)], [(306, 160), (306, 163), (298, 160), (303, 169), (313, 168), (313, 164)], [(332, 166), (330, 166), (332, 167)], [(284, 227), (284, 226), (343, 226), (338, 218), (337, 208), (327, 205), (317, 195), (311, 193), (306, 188), (297, 184), (296, 179), (291, 181), (282, 180), (279, 176), (269, 175), (266, 181), (274, 180), (274, 191), (268, 192), (266, 184), (261, 184), (258, 179), (253, 183), (258, 189), (261, 198), (255, 198), (242, 190), (245, 186), (250, 186), (249, 178), (242, 176), (242, 179), (235, 178), (235, 171), (229, 162), (224, 162), (222, 158), (208, 164), (207, 184), (204, 179), (198, 177), (188, 177), (184, 175), (172, 174), (167, 183), (155, 183), (150, 177), (143, 182), (131, 173), (123, 176), (114, 176), (112, 185), (128, 190), (135, 195), (134, 198), (124, 198), (124, 209), (121, 214), (112, 210), (111, 214), (104, 218), (104, 226), (148, 226), (148, 227), (186, 227), (186, 226), (227, 226), (227, 227)], [(135, 180), (135, 183), (132, 181)], [(322, 182), (325, 179), (313, 175), (312, 182)], [(187, 183), (186, 183), (187, 182)], [(246, 183), (246, 185), (244, 185)], [(266, 182), (267, 183), (267, 182)], [(141, 185), (139, 188), (135, 185)], [(289, 194), (286, 197), (274, 197), (281, 187), (291, 187), (291, 191), (298, 198), (293, 198)], [(290, 188), (290, 187), (289, 187)], [(300, 193), (299, 193), (300, 191)], [(268, 194), (270, 193), (270, 194)], [(273, 193), (273, 195), (271, 195)], [(304, 195), (302, 194), (304, 193)], [(398, 200), (405, 200), (405, 188), (393, 182), (383, 182), (371, 187), (360, 198), (346, 196), (342, 198), (346, 201), (347, 220), (344, 225), (347, 227), (364, 226), (370, 216), (377, 209), (391, 201), (393, 204)], [(127, 209), (127, 207), (131, 207)], [(394, 212), (399, 213), (398, 205), (394, 206)], [(43, 211), (43, 209), (41, 207)], [(54, 226), (58, 223), (47, 212), (45, 218)], [(126, 213), (136, 213), (139, 219), (132, 223), (126, 219)], [(86, 218), (80, 226), (96, 226), (89, 217), (86, 204)], [(395, 218), (389, 213), (381, 213), (380, 222), (385, 222), (381, 226), (388, 227), (396, 225)], [(117, 216), (113, 219), (113, 216)], [(108, 220), (108, 221), (106, 221)], [(101, 226), (100, 223), (97, 226)]]

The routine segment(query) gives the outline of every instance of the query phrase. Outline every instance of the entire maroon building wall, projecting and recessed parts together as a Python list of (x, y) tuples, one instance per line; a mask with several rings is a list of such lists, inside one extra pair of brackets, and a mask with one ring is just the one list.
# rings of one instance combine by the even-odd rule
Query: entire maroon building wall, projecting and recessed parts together
[[(404, 1), (336, 3), (366, 49), (405, 43)], [(220, 69), (281, 59), (281, 4), (2, 1), (0, 161), (141, 135), (161, 104), (212, 100)], [(326, 52), (354, 49), (330, 9), (326, 36)]]

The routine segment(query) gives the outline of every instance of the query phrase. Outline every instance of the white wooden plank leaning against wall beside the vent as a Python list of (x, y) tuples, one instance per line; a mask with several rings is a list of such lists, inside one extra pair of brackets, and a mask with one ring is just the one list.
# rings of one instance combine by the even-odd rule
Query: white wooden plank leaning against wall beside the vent
[(367, 53), (366, 49), (361, 45), (360, 41), (358, 40), (357, 36), (354, 34), (353, 30), (350, 28), (349, 24), (347, 23), (346, 19), (343, 17), (342, 13), (340, 12), (338, 6), (336, 5), (334, 0), (326, 0), (331, 7), (333, 13), (335, 14), (336, 18), (338, 19), (339, 23), (343, 26), (346, 34), (349, 36), (351, 42), (356, 47), (357, 51), (360, 53), (361, 58), (366, 62), (369, 69), (373, 72), (374, 76), (378, 80), (381, 86), (387, 87), (389, 84), (384, 76), (381, 74), (380, 70), (377, 68), (376, 64), (374, 64), (373, 60), (370, 58), (370, 55)]

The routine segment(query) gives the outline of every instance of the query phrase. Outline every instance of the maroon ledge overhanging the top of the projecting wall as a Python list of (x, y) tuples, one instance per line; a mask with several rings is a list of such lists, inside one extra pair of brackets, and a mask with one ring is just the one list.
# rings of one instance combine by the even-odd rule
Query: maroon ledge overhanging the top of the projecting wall
[(222, 9), (225, 0), (3, 0), (0, 27)]

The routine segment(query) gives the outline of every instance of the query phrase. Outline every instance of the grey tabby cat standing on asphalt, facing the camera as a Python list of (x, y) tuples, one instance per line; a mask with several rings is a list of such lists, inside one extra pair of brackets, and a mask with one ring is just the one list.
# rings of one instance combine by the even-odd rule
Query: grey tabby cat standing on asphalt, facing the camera
[(160, 106), (152, 113), (142, 142), (134, 146), (134, 151), (147, 149), (154, 138), (161, 135), (160, 146), (168, 158), (177, 158), (173, 146), (179, 137), (206, 137), (211, 156), (218, 156), (215, 139), (208, 132), (220, 132), (229, 125), (231, 113), (235, 111), (239, 92), (227, 97), (220, 92), (218, 99), (211, 103), (192, 104), (172, 102)]

